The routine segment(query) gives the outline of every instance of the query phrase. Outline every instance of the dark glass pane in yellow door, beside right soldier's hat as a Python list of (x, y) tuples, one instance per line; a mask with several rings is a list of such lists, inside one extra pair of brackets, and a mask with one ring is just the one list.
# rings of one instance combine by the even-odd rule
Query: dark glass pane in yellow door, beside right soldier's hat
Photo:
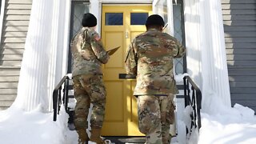
[(148, 16), (148, 13), (131, 13), (130, 25), (145, 25)]

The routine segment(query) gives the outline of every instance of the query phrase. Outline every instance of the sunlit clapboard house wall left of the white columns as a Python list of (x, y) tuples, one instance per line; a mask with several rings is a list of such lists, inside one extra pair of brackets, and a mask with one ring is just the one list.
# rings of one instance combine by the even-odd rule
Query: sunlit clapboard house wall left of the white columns
[(32, 0), (6, 0), (2, 5), (0, 45), (0, 110), (16, 98)]

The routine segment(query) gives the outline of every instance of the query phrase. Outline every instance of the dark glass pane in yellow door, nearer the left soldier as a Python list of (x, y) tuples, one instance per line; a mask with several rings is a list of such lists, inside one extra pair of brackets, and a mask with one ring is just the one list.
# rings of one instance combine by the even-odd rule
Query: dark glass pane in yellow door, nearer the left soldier
[(122, 13), (106, 13), (105, 14), (106, 26), (122, 25), (122, 23), (123, 23)]

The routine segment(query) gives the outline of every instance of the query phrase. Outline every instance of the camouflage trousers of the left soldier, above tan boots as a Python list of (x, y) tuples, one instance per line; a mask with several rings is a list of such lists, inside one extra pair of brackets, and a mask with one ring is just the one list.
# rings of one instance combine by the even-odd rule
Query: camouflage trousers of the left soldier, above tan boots
[(106, 88), (101, 74), (82, 74), (73, 77), (74, 98), (77, 100), (74, 110), (76, 130), (88, 128), (90, 103), (93, 104), (90, 126), (101, 128), (106, 105)]

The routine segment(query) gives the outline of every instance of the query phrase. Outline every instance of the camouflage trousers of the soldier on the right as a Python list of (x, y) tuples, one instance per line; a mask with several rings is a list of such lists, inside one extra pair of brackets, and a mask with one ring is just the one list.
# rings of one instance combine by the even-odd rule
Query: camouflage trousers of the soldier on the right
[(138, 128), (146, 143), (170, 143), (170, 124), (174, 123), (174, 95), (141, 95), (137, 98)]

